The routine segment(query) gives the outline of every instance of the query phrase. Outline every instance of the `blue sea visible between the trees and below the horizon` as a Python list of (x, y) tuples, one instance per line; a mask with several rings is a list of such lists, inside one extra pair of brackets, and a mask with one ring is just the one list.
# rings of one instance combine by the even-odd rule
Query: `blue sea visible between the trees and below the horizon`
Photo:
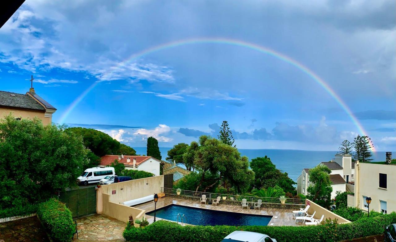
[[(137, 154), (146, 154), (146, 147), (134, 147)], [(160, 147), (162, 160), (165, 160), (169, 147)], [(301, 150), (278, 150), (278, 149), (238, 149), (242, 156), (249, 160), (256, 157), (268, 156), (276, 168), (287, 172), (293, 181), (297, 181), (304, 168), (313, 168), (320, 162), (330, 161), (335, 158), (337, 151), (301, 151)], [(396, 154), (396, 152), (392, 152)], [(385, 161), (385, 152), (373, 152), (373, 162)]]

